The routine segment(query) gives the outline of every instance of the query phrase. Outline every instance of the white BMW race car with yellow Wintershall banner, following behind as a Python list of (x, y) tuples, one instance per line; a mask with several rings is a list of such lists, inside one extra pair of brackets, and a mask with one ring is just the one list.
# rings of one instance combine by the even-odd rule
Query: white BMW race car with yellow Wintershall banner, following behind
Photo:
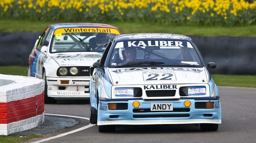
[(90, 66), (105, 43), (120, 31), (107, 24), (59, 23), (47, 26), (29, 57), (28, 76), (44, 79), (45, 103), (89, 99)]

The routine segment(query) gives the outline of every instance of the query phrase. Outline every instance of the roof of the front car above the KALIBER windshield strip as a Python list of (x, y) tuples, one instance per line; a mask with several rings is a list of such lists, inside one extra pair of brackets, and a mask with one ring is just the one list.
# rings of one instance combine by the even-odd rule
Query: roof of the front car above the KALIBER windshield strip
[[(117, 41), (121, 40), (188, 40), (192, 41), (190, 37), (180, 34), (168, 33), (134, 33), (123, 34), (115, 36)], [(193, 42), (193, 41), (192, 41)]]

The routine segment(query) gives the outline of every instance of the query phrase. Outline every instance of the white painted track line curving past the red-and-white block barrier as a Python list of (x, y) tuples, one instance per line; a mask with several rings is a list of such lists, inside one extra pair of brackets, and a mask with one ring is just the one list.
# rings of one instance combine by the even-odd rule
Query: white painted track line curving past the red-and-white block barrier
[[(82, 119), (87, 119), (87, 120), (89, 120), (89, 118), (77, 117), (77, 116), (67, 116), (67, 115), (57, 115), (57, 114), (45, 114), (45, 115), (74, 117), (74, 118), (82, 118)], [(73, 133), (75, 133), (75, 132), (82, 131), (82, 130), (84, 130), (84, 129), (90, 128), (90, 127), (95, 126), (95, 125), (96, 125), (96, 124), (91, 124), (91, 123), (90, 123), (89, 125), (84, 126), (84, 127), (81, 127), (81, 128), (79, 128), (79, 129), (76, 129), (76, 130), (73, 130), (73, 131), (70, 131), (70, 132), (67, 132), (67, 133), (63, 133), (63, 134), (60, 134), (60, 135), (56, 135), (56, 136), (53, 136), (53, 137), (49, 137), (49, 138), (46, 138), (46, 139), (42, 139), (42, 140), (39, 140), (39, 141), (35, 141), (35, 142), (32, 142), (32, 143), (40, 143), (40, 142), (48, 141), (48, 140), (51, 140), (51, 139), (54, 139), (54, 138), (58, 138), (58, 137), (62, 137), (62, 136), (65, 136), (65, 135), (73, 134)]]

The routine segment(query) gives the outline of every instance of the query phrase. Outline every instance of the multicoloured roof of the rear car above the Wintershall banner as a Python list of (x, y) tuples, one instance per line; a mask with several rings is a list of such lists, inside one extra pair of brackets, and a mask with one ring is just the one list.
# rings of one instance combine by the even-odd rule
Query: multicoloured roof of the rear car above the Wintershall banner
[(98, 24), (98, 23), (56, 23), (56, 24), (49, 24), (48, 26), (53, 27), (53, 30), (58, 28), (73, 28), (73, 27), (99, 27), (99, 28), (101, 27), (101, 28), (115, 28), (118, 30), (118, 28), (115, 26), (108, 25), (108, 24)]

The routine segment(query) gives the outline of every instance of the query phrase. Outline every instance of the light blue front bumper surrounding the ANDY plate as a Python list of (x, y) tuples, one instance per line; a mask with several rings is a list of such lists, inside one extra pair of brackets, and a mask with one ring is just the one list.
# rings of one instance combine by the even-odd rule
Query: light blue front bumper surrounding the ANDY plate
[[(184, 102), (191, 105), (185, 107)], [(139, 107), (133, 103), (138, 101)], [(196, 102), (214, 102), (213, 109), (196, 109)], [(127, 110), (108, 110), (108, 103), (128, 103)], [(151, 103), (173, 103), (173, 111), (150, 111)], [(102, 108), (103, 107), (103, 108)], [(142, 98), (123, 101), (100, 99), (97, 125), (148, 125), (148, 124), (194, 124), (221, 123), (221, 103), (214, 98), (181, 98), (175, 101), (144, 101)]]

